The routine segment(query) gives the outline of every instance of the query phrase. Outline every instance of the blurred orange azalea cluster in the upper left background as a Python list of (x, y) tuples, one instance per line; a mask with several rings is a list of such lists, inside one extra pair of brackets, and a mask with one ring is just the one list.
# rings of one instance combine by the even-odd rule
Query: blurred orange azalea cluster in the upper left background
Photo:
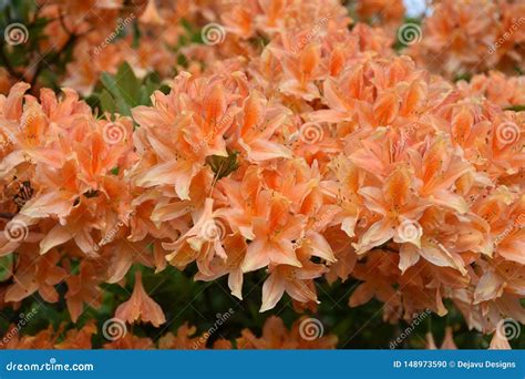
[[(38, 89), (44, 86), (39, 73), (53, 62), (42, 62), (42, 55), (53, 52), (56, 60), (69, 50), (72, 58), (65, 70), (56, 69), (54, 74), (61, 85), (73, 88), (84, 96), (92, 94), (103, 72), (116, 73), (123, 62), (128, 62), (138, 78), (153, 71), (162, 78), (171, 76), (176, 66), (173, 50), (179, 37), (187, 34), (179, 21), (183, 18), (195, 21), (200, 11), (192, 1), (177, 1), (176, 7), (166, 1), (161, 10), (153, 0), (128, 3), (39, 0), (31, 24), (43, 24), (45, 38), (41, 38), (38, 45), (41, 53), (31, 57), (25, 68), (11, 62), (9, 70), (0, 70), (3, 93), (17, 81), (32, 82)], [(136, 25), (137, 37), (133, 25)], [(29, 35), (32, 30), (24, 28), (14, 28), (11, 37), (34, 38)], [(9, 33), (7, 35), (9, 38)], [(12, 44), (18, 47), (19, 40)]]

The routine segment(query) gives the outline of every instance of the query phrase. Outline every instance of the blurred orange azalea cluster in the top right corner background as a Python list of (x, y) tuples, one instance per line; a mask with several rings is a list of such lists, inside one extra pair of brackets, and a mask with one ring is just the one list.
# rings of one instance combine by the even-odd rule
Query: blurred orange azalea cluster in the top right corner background
[[(415, 42), (415, 41), (414, 41)], [(436, 2), (408, 53), (450, 79), (473, 72), (525, 70), (525, 3), (522, 1)]]

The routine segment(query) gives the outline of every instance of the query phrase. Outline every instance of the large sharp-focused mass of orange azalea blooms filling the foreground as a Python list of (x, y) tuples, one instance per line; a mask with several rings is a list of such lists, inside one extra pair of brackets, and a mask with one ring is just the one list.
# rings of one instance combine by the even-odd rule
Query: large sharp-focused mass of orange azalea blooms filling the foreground
[[(285, 294), (315, 310), (316, 283), (357, 279), (350, 307), (377, 298), (389, 321), (444, 316), (450, 299), (485, 334), (525, 322), (525, 113), (506, 110), (523, 104), (521, 78), (452, 83), (398, 57), (382, 29), (350, 30), (338, 1), (228, 1), (205, 13), (224, 41), (188, 48), (206, 64), (132, 117), (97, 114), (71, 89), (37, 99), (18, 83), (0, 96), (0, 255), (17, 255), (2, 307), (35, 293), (56, 303), (65, 280), (75, 322), (133, 265), (196, 265), (196, 280), (227, 276), (238, 299), (264, 270), (260, 311)], [(115, 317), (166, 321), (140, 275)], [(185, 346), (191, 330), (158, 347)], [(94, 331), (71, 331), (70, 344)], [(246, 331), (236, 345), (297, 347), (294, 334)]]

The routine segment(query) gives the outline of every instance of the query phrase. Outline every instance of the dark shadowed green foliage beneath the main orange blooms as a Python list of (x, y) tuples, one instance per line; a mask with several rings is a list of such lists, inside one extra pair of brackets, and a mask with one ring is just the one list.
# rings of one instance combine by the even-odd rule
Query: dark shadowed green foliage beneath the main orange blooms
[[(64, 301), (66, 285), (61, 284), (58, 287), (60, 293), (58, 304), (47, 304), (39, 295), (33, 295), (24, 299), (17, 311), (3, 309), (0, 317), (0, 335), (8, 330), (10, 324), (17, 324), (20, 320), (20, 314), (27, 315), (32, 309), (37, 309), (35, 316), (23, 328), (22, 332), (24, 335), (34, 335), (39, 330), (48, 328), (50, 324), (55, 330), (60, 325), (64, 325), (65, 330), (68, 330), (83, 326), (90, 319), (95, 319), (99, 334), (93, 336), (93, 347), (99, 348), (107, 342), (101, 332), (102, 325), (105, 320), (114, 317), (120, 304), (130, 298), (136, 269), (142, 270), (144, 288), (163, 308), (167, 320), (158, 329), (148, 324), (137, 324), (130, 327), (130, 331), (137, 336), (157, 340), (167, 331), (175, 334), (185, 322), (196, 326), (197, 334), (200, 335), (214, 326), (217, 314), (225, 314), (230, 308), (234, 310), (233, 316), (220, 326), (217, 332), (212, 335), (208, 344), (213, 344), (217, 338), (235, 339), (240, 336), (240, 331), (245, 328), (260, 335), (265, 320), (272, 315), (282, 318), (288, 327), (300, 317), (287, 295), (275, 309), (264, 314), (259, 313), (261, 286), (267, 276), (265, 270), (245, 276), (244, 300), (239, 300), (230, 295), (227, 277), (210, 283), (195, 281), (193, 276), (197, 270), (194, 265), (185, 272), (168, 266), (164, 272), (157, 274), (154, 274), (153, 269), (134, 266), (126, 275), (124, 287), (117, 284), (102, 285), (104, 293), (102, 307), (85, 309), (76, 325), (71, 322)], [(321, 320), (325, 335), (333, 334), (338, 336), (339, 348), (389, 349), (390, 344), (401, 336), (410, 324), (404, 321), (388, 324), (383, 321), (384, 305), (377, 300), (350, 308), (348, 298), (357, 285), (358, 283), (354, 280), (337, 281), (332, 285), (326, 281), (318, 284), (317, 288), (321, 304), (318, 306), (318, 311), (310, 316)], [(469, 330), (463, 316), (457, 309), (451, 303), (445, 303), (445, 305), (449, 309), (447, 316), (439, 317), (431, 314), (422, 318), (422, 321), (413, 328), (408, 338), (403, 339), (397, 348), (424, 348), (428, 331), (432, 331), (436, 345), (440, 346), (445, 328), (452, 327), (454, 341), (460, 348), (486, 349), (492, 336), (483, 336), (477, 331)], [(525, 337), (521, 336), (511, 340), (511, 345), (513, 348), (525, 348)]]

